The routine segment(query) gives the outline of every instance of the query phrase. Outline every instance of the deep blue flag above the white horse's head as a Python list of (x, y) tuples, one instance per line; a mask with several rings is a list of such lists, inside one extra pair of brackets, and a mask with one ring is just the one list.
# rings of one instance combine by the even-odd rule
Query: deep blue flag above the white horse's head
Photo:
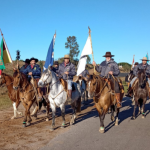
[(56, 34), (54, 34), (53, 39), (51, 41), (51, 44), (49, 46), (49, 49), (48, 49), (48, 52), (47, 52), (46, 61), (45, 61), (45, 65), (43, 67), (44, 69), (47, 69), (48, 66), (53, 66), (55, 38), (56, 38)]

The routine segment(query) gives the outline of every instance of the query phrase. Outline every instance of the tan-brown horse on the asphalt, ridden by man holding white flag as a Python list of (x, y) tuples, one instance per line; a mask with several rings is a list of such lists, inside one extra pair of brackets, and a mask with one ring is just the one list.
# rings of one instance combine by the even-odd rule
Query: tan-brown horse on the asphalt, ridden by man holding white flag
[[(115, 94), (110, 88), (108, 81), (105, 81), (103, 78), (97, 75), (93, 75), (91, 78), (88, 77), (87, 82), (87, 90), (89, 97), (93, 97), (93, 100), (95, 102), (95, 107), (99, 113), (100, 118), (100, 129), (99, 132), (104, 133), (104, 118), (105, 115), (111, 107), (111, 120), (114, 121), (114, 111), (115, 111)], [(121, 94), (121, 99), (123, 97), (123, 94)], [(118, 125), (118, 115), (119, 115), (119, 108), (116, 109), (116, 121), (115, 125)]]

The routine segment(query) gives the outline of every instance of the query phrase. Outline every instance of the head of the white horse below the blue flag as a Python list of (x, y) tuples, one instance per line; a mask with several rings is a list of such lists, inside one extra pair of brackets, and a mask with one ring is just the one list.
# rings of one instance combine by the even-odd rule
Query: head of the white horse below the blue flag
[(52, 82), (52, 72), (50, 66), (48, 69), (45, 69), (41, 75), (41, 78), (38, 82), (39, 87), (44, 87)]

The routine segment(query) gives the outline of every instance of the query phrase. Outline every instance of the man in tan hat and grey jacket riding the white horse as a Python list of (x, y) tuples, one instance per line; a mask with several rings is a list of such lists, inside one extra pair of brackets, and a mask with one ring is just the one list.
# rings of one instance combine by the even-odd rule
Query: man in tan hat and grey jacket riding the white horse
[(64, 56), (64, 62), (59, 65), (58, 75), (68, 83), (68, 101), (71, 101), (72, 96), (72, 80), (76, 75), (75, 65), (70, 62), (70, 56)]

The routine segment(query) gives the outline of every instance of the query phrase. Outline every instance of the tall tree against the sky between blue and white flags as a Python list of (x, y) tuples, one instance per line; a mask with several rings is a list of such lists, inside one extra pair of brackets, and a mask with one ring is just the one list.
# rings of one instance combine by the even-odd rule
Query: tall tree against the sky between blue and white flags
[(70, 49), (69, 56), (70, 56), (71, 61), (73, 61), (75, 57), (78, 57), (80, 51), (79, 51), (79, 45), (77, 43), (77, 39), (75, 36), (67, 37), (65, 48)]

